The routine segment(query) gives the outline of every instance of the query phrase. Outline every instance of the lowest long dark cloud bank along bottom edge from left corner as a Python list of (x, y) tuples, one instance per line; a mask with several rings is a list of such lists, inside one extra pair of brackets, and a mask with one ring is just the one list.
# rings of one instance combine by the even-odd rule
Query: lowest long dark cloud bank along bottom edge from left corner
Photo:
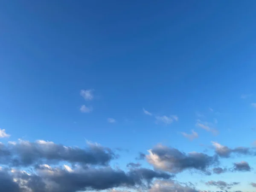
[(142, 168), (124, 172), (111, 167), (76, 167), (69, 172), (60, 167), (38, 165), (31, 174), (14, 169), (9, 174), (0, 172), (0, 189), (1, 192), (79, 192), (135, 186), (148, 189), (153, 179), (172, 177), (166, 173)]

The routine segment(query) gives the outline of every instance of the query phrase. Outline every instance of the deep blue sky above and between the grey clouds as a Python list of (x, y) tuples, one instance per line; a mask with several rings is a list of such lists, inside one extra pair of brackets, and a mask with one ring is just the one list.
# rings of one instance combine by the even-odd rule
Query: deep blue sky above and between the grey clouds
[[(253, 149), (255, 6), (253, 0), (0, 2), (0, 129), (10, 134), (0, 142), (79, 148), (96, 142), (125, 149), (110, 163), (122, 170), (131, 162), (157, 170), (150, 157), (135, 160), (157, 144), (210, 156), (219, 155), (211, 142)], [(250, 172), (206, 176), (186, 169), (175, 179), (207, 191), (223, 190), (207, 186), (210, 180), (241, 182), (228, 190), (253, 192), (254, 159), (219, 157), (220, 167), (246, 161)]]

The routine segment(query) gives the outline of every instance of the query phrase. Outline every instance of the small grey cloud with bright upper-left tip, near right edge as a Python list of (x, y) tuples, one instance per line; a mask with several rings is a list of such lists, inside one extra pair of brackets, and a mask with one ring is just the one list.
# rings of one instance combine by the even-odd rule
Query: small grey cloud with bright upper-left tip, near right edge
[(212, 145), (215, 147), (215, 153), (218, 154), (220, 157), (228, 158), (230, 157), (231, 154), (238, 154), (238, 155), (253, 154), (251, 149), (246, 147), (236, 147), (234, 149), (231, 149), (217, 142), (212, 142)]

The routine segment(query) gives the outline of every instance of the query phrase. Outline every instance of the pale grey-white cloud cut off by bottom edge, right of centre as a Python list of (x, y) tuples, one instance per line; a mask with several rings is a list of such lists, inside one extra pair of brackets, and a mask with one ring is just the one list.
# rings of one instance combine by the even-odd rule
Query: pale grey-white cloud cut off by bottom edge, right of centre
[(179, 183), (174, 180), (156, 180), (154, 185), (149, 189), (149, 192), (199, 192), (194, 186), (189, 186), (186, 183)]

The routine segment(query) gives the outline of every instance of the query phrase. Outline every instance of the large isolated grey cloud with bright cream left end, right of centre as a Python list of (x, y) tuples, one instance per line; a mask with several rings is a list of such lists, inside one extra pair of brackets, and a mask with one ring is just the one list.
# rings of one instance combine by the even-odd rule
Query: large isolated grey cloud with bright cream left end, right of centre
[(211, 157), (207, 154), (190, 152), (185, 154), (176, 148), (169, 148), (163, 145), (157, 145), (153, 149), (148, 150), (146, 155), (148, 163), (155, 169), (171, 173), (183, 172), (186, 169), (196, 169), (205, 174), (209, 174), (207, 170), (209, 166), (218, 163), (217, 157)]

